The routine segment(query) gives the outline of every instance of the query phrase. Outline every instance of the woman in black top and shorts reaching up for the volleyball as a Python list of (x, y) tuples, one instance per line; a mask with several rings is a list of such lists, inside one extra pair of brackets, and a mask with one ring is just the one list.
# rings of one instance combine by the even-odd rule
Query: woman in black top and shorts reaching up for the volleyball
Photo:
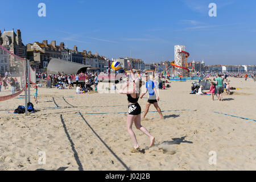
[(147, 131), (145, 127), (141, 125), (141, 106), (139, 106), (138, 100), (139, 100), (139, 94), (140, 94), (139, 90), (142, 86), (142, 81), (139, 80), (138, 78), (135, 78), (129, 62), (128, 62), (128, 66), (131, 70), (131, 75), (133, 78), (133, 89), (132, 90), (125, 89), (127, 88), (127, 86), (129, 86), (129, 83), (127, 82), (127, 84), (120, 90), (119, 93), (127, 94), (129, 114), (127, 115), (126, 129), (130, 134), (131, 139), (133, 140), (134, 149), (139, 150), (139, 144), (137, 142), (136, 136), (132, 129), (133, 122), (138, 130), (141, 130), (144, 134), (146, 134), (150, 138), (150, 147), (154, 146), (155, 138)]

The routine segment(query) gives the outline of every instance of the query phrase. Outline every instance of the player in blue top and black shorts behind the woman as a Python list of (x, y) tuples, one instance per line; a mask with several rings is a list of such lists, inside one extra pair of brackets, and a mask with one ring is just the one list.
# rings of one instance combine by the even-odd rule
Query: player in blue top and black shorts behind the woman
[[(153, 76), (151, 76), (151, 79), (152, 78), (153, 78)], [(158, 106), (159, 97), (158, 97), (158, 93), (156, 92), (155, 83), (154, 83), (154, 81), (150, 80), (147, 75), (146, 75), (146, 80), (147, 80), (146, 92), (141, 95), (141, 99), (144, 96), (144, 94), (146, 94), (148, 92), (148, 100), (147, 100), (148, 103), (146, 105), (146, 109), (144, 111), (142, 119), (144, 119), (146, 117), (151, 104), (153, 104), (155, 106), (155, 109), (158, 111), (158, 113), (160, 115), (160, 119), (164, 119), (162, 111), (161, 111), (160, 107)]]

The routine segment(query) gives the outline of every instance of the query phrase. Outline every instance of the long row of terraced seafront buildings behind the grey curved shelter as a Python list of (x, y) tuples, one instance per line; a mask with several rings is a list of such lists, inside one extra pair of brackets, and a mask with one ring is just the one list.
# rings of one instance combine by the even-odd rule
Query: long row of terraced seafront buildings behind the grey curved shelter
[(91, 65), (91, 71), (102, 72), (106, 65), (104, 56), (99, 56), (98, 53), (93, 55), (91, 51), (80, 52), (77, 46), (74, 46), (73, 49), (68, 49), (63, 42), (57, 46), (55, 40), (51, 44), (48, 44), (47, 40), (43, 40), (42, 43), (27, 44), (27, 55), (31, 61), (31, 67), (36, 68), (38, 72), (46, 71), (49, 61), (53, 58)]

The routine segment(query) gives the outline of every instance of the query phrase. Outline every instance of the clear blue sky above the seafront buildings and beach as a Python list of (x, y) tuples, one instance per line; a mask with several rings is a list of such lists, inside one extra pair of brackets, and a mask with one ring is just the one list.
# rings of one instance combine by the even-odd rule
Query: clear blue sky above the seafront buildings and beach
[[(217, 17), (208, 15), (212, 2)], [(256, 64), (255, 10), (255, 0), (2, 0), (0, 30), (19, 28), (24, 44), (56, 40), (110, 59), (171, 61), (183, 44), (189, 61)]]

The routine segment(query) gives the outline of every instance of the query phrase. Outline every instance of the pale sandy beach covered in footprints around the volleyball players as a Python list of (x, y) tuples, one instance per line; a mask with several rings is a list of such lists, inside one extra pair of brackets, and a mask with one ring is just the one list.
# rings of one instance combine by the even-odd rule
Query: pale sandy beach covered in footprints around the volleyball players
[[(151, 106), (142, 121), (155, 146), (133, 127), (142, 153), (131, 152), (126, 95), (39, 87), (38, 104), (31, 96), (38, 112), (25, 116), (13, 114), (24, 105), (22, 93), (0, 103), (0, 170), (255, 170), (256, 82), (228, 79), (239, 90), (224, 94), (223, 102), (189, 94), (191, 81), (160, 90), (165, 119)], [(139, 100), (142, 111), (146, 103)], [(39, 151), (46, 164), (39, 164)], [(209, 164), (210, 151), (216, 164)]]

